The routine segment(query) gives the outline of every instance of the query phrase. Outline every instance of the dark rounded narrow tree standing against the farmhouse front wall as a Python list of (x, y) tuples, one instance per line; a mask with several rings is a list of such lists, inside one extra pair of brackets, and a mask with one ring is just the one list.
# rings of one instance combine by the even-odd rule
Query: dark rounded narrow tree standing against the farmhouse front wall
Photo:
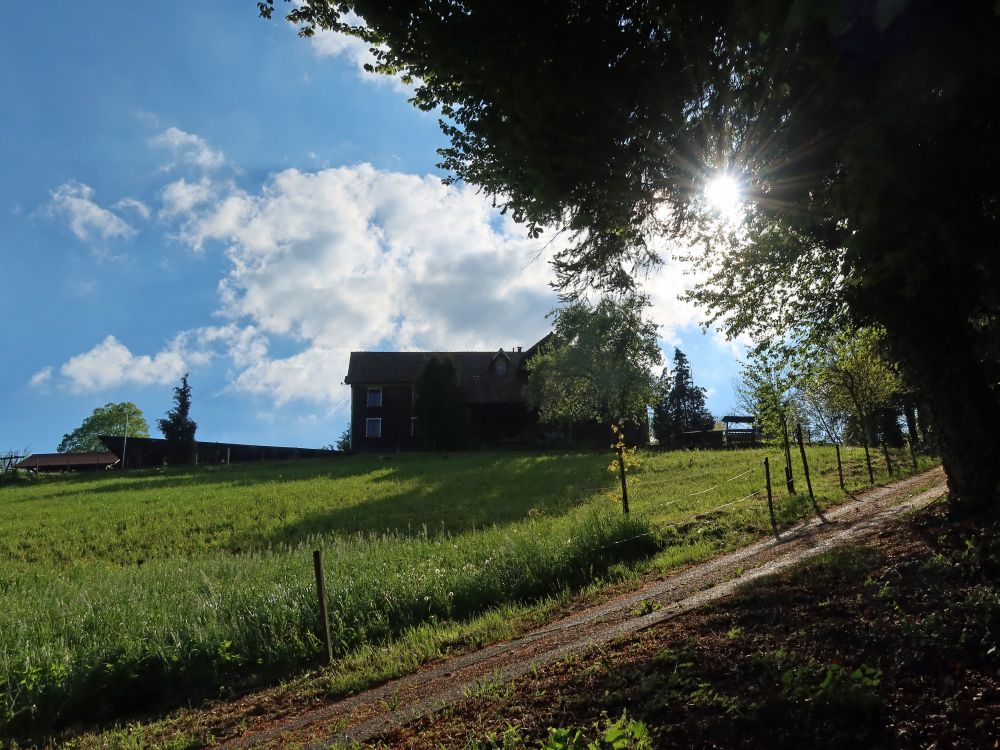
[(429, 450), (455, 450), (465, 444), (465, 391), (455, 361), (433, 354), (413, 383), (417, 436)]

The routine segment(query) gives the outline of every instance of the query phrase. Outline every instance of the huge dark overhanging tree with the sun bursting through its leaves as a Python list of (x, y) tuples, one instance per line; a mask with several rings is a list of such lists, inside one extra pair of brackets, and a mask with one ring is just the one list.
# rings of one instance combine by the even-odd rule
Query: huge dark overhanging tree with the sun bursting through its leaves
[[(365, 39), (374, 69), (412, 81), (450, 179), (533, 235), (568, 230), (564, 293), (631, 288), (657, 243), (694, 240), (692, 297), (730, 336), (884, 327), (953, 502), (995, 503), (994, 3), (304, 0), (288, 18)], [(738, 227), (705, 210), (717, 172), (750, 200)]]

